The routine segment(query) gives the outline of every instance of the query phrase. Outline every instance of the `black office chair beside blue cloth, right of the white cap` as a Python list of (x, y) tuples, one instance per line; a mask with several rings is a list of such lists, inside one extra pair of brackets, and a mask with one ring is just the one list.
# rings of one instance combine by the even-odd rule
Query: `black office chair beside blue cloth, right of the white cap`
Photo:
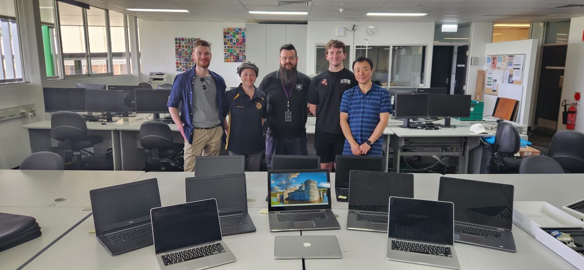
[(523, 157), (516, 157), (519, 152), (519, 132), (512, 124), (500, 122), (495, 133), (495, 144), (491, 146), (489, 158), (489, 174), (516, 173)]

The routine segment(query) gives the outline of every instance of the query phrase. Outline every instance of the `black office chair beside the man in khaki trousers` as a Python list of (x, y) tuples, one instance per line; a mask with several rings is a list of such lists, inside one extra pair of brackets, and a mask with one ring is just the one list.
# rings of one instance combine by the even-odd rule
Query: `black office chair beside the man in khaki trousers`
[(165, 170), (162, 162), (168, 162), (176, 168), (181, 164), (184, 144), (173, 143), (172, 131), (168, 124), (158, 121), (147, 121), (140, 125), (140, 144), (147, 155), (147, 164)]

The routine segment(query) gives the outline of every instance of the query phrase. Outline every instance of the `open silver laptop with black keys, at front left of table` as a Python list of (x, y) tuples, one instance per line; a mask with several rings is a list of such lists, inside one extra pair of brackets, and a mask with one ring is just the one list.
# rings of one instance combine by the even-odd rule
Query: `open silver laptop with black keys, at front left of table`
[(206, 269), (236, 260), (221, 238), (215, 199), (153, 208), (150, 214), (160, 269)]

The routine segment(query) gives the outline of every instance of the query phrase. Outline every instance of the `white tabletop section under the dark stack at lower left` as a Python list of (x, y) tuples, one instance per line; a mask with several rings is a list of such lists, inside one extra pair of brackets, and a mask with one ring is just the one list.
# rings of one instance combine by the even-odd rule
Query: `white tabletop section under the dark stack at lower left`
[[(0, 269), (16, 269), (65, 233), (90, 211), (83, 207), (9, 207), (0, 206), (1, 213), (22, 214), (34, 217), (40, 226), (41, 236), (9, 250), (0, 252)], [(47, 267), (47, 266), (46, 266)]]

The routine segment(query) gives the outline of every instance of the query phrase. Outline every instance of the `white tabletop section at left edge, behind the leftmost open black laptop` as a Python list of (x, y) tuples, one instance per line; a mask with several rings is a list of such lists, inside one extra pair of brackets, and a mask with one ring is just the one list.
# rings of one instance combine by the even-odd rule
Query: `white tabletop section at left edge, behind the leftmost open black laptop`
[[(0, 206), (91, 206), (89, 191), (134, 181), (143, 171), (0, 170)], [(55, 202), (57, 198), (65, 198)]]

